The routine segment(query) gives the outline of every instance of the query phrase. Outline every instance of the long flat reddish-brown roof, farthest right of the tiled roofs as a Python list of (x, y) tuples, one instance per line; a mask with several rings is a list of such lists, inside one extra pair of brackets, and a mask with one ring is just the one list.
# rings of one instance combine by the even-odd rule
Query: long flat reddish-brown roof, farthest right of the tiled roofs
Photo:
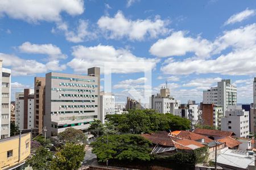
[(230, 137), (232, 135), (236, 135), (233, 131), (221, 131), (212, 129), (195, 129), (193, 132), (202, 135), (214, 135), (219, 137)]

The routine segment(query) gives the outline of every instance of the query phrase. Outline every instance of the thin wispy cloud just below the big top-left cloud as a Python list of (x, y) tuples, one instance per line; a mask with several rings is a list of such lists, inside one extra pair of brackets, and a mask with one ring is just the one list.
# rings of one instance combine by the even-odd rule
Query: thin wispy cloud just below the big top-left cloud
[(56, 31), (63, 31), (65, 38), (70, 42), (83, 42), (88, 40), (96, 39), (97, 35), (95, 32), (88, 30), (88, 22), (86, 20), (79, 20), (77, 27), (70, 30), (68, 23), (58, 22), (56, 28), (52, 29), (52, 33)]

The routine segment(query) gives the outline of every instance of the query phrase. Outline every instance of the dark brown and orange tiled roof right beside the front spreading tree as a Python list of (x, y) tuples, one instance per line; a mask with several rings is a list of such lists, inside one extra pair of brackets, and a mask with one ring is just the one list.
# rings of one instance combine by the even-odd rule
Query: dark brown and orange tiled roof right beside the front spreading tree
[(179, 150), (195, 150), (199, 147), (204, 147), (203, 144), (192, 141), (191, 139), (183, 139), (171, 136), (166, 131), (160, 131), (151, 134), (141, 134), (142, 137), (148, 139), (155, 145), (162, 145), (165, 147), (175, 147)]

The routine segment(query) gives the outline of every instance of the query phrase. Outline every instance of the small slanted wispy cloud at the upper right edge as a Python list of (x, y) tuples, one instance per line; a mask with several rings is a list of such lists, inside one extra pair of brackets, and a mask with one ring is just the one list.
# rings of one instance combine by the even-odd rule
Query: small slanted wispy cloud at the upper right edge
[(224, 23), (224, 25), (242, 22), (243, 20), (253, 15), (255, 15), (255, 10), (249, 10), (248, 8), (246, 8), (246, 10), (230, 16), (230, 18)]

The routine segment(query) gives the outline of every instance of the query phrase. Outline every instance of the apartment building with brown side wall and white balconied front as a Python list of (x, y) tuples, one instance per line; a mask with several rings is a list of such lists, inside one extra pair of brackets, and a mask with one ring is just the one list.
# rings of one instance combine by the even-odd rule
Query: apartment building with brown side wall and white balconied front
[(223, 117), (222, 107), (214, 104), (203, 104), (202, 123), (203, 125), (221, 128), (221, 118)]

